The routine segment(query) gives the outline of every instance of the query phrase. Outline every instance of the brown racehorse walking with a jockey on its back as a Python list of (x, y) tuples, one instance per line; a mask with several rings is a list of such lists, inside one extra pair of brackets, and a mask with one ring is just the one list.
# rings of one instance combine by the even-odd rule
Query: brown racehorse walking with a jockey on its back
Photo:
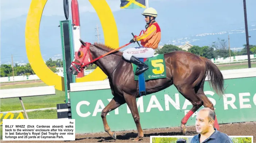
[[(136, 103), (136, 98), (140, 97), (139, 87), (138, 81), (134, 79), (132, 64), (122, 58), (122, 52), (113, 51), (114, 48), (110, 46), (98, 43), (90, 44), (82, 40), (80, 42), (82, 43), (81, 47), (75, 53), (69, 70), (72, 74), (77, 75), (82, 68), (93, 63), (108, 76), (114, 97), (101, 112), (105, 131), (116, 140), (115, 132), (112, 132), (108, 126), (106, 114), (127, 103), (138, 131), (134, 141), (142, 139), (144, 135)], [(209, 84), (213, 90), (218, 95), (222, 95), (224, 93), (223, 75), (209, 59), (185, 51), (165, 53), (164, 61), (166, 62), (166, 78), (147, 81), (146, 93), (152, 94), (174, 85), (179, 93), (192, 103), (192, 109), (181, 120), (181, 132), (186, 134), (185, 124), (195, 111), (201, 106), (214, 110), (213, 103), (203, 92), (206, 76), (208, 75)], [(216, 117), (214, 127), (218, 130)]]

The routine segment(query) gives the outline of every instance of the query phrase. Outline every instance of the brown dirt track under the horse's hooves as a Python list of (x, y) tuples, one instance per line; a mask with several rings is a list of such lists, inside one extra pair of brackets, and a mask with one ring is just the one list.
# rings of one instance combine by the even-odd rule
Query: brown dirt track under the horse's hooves
[[(160, 136), (160, 135), (182, 135), (179, 127), (172, 128), (159, 128), (159, 129), (147, 129), (144, 131), (144, 138), (139, 142), (149, 143), (150, 136)], [(224, 132), (228, 135), (253, 135), (253, 140), (256, 142), (256, 122), (247, 123), (231, 123), (231, 124), (220, 124), (220, 132)], [(194, 126), (187, 127), (186, 135), (196, 135), (197, 132)], [(134, 143), (133, 139), (137, 136), (137, 131), (118, 131), (116, 132), (117, 140), (113, 140), (106, 132), (93, 133), (93, 134), (77, 134), (75, 135), (75, 141), (65, 141), (66, 143), (73, 142), (117, 142), (117, 143)], [(7, 142), (2, 141), (1, 142)], [(13, 141), (12, 141), (13, 142)], [(27, 142), (27, 141), (16, 141), (17, 142)], [(42, 142), (42, 141), (31, 141), (31, 142)], [(61, 141), (44, 141), (44, 142), (61, 142)]]

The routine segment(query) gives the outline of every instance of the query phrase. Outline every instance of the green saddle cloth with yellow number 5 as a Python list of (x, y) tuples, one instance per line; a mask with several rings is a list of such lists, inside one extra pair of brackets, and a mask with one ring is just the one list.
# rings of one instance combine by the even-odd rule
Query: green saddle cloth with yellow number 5
[[(151, 79), (166, 78), (166, 65), (163, 54), (158, 54), (157, 56), (147, 58), (144, 63), (148, 65), (148, 69), (143, 73), (145, 81)], [(135, 75), (137, 66), (132, 64), (132, 68), (134, 80), (138, 81), (139, 76)]]

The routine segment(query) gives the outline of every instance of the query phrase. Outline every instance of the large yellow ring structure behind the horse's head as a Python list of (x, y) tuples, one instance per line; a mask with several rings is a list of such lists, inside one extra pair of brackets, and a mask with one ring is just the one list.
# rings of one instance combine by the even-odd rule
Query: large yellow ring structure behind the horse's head
[[(119, 39), (115, 18), (105, 0), (89, 0), (101, 21), (105, 44), (114, 48), (119, 47)], [(39, 45), (39, 27), (43, 9), (47, 0), (32, 0), (27, 15), (25, 43), (28, 62), (35, 74), (47, 85), (55, 85), (55, 89), (65, 91), (64, 78), (51, 71), (43, 61)], [(63, 14), (64, 15), (64, 14)], [(88, 21), (86, 21), (88, 22)], [(50, 32), (50, 31), (49, 31)], [(71, 64), (71, 63), (70, 63)], [(76, 82), (100, 81), (106, 78), (100, 68)]]

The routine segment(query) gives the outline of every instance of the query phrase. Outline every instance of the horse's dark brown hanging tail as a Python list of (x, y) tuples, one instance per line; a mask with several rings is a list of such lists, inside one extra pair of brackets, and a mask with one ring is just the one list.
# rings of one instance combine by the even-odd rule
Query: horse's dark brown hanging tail
[(218, 67), (209, 59), (201, 57), (205, 61), (206, 77), (208, 75), (209, 85), (213, 87), (218, 95), (224, 93), (224, 78)]

